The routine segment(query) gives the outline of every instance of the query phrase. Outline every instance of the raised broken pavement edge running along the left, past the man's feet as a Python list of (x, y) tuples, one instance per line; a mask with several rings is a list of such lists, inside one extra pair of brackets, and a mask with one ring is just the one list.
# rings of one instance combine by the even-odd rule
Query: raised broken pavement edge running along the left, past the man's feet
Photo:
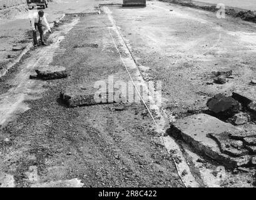
[[(56, 22), (61, 21), (61, 20), (64, 18), (64, 16), (66, 16), (65, 13), (64, 13), (63, 16), (61, 16)], [(52, 28), (52, 27), (54, 26), (54, 22), (52, 22), (51, 24), (49, 24), (49, 26)], [(44, 31), (44, 35), (46, 34), (46, 32), (47, 32), (47, 31)], [(39, 36), (37, 37), (37, 39), (39, 40)], [(32, 47), (33, 47), (33, 42), (30, 42), (30, 43), (25, 47), (25, 49), (23, 49), (23, 51), (21, 52), (21, 54), (19, 54), (18, 58), (14, 59), (13, 62), (8, 63), (5, 68), (1, 69), (1, 70), (0, 70), (0, 78), (1, 78), (2, 76), (4, 76), (4, 75), (8, 72), (9, 69), (13, 68), (13, 66), (14, 66), (15, 64), (19, 63), (19, 61), (21, 61), (21, 59), (24, 57), (24, 55), (25, 55), (26, 53), (28, 53), (28, 52), (31, 50)]]

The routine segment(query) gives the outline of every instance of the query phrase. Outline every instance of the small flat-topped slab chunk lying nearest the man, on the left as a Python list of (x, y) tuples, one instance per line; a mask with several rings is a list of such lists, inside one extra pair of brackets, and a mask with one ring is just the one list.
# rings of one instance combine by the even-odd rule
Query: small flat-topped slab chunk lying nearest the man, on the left
[(36, 69), (37, 78), (43, 80), (49, 79), (61, 79), (68, 76), (66, 68), (62, 66), (43, 66), (39, 69)]

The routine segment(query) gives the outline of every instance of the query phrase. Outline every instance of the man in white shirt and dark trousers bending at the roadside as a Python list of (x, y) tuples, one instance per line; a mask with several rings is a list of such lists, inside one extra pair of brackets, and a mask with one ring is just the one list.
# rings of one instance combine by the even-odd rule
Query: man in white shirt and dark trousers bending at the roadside
[[(51, 33), (51, 28), (49, 27), (49, 24), (46, 20), (46, 17), (44, 16), (44, 11), (39, 10), (38, 13), (34, 13), (33, 16), (31, 16), (30, 19), (31, 27), (33, 28), (33, 37), (36, 32), (36, 29), (38, 29), (40, 33), (40, 39), (41, 39), (41, 45), (46, 46), (44, 43), (44, 31), (43, 27), (46, 27), (46, 31), (49, 31)], [(37, 40), (34, 38), (34, 46), (37, 44)]]

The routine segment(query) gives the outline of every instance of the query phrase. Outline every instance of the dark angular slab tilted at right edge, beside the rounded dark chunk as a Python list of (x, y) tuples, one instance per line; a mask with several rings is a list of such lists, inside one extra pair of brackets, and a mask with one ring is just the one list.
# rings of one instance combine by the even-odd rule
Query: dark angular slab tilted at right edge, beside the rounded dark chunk
[(243, 106), (246, 106), (248, 109), (256, 111), (256, 96), (254, 90), (251, 92), (251, 94), (247, 92), (232, 93), (232, 98), (239, 101)]

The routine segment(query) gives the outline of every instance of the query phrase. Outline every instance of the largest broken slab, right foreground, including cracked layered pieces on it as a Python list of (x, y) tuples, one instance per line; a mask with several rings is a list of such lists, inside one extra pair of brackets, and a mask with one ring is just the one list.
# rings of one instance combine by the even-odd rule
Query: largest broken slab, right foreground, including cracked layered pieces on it
[[(227, 168), (250, 166), (252, 159), (255, 160), (256, 146), (248, 146), (242, 140), (254, 136), (253, 133), (245, 133), (232, 124), (207, 114), (178, 119), (171, 125), (169, 134), (182, 139), (198, 153), (222, 163)], [(232, 134), (239, 134), (240, 138), (232, 138)]]

